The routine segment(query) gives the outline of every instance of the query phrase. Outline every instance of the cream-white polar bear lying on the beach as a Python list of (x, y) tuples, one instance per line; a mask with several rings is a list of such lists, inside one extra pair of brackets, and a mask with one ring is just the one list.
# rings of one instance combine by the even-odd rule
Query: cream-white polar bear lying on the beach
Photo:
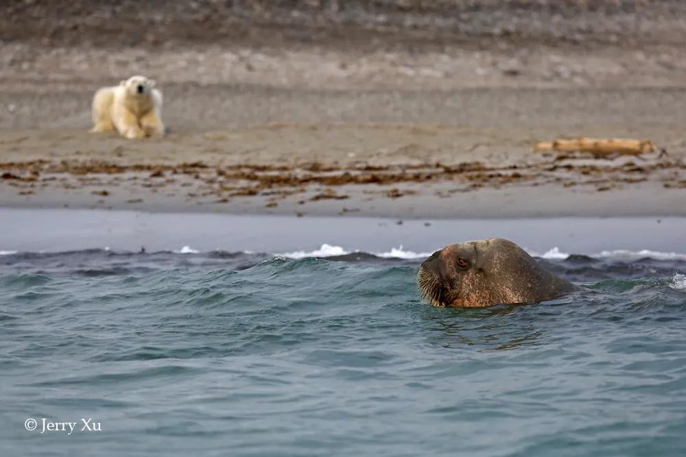
[(162, 92), (154, 79), (132, 76), (119, 86), (100, 88), (93, 97), (93, 129), (91, 132), (117, 130), (126, 138), (163, 136)]

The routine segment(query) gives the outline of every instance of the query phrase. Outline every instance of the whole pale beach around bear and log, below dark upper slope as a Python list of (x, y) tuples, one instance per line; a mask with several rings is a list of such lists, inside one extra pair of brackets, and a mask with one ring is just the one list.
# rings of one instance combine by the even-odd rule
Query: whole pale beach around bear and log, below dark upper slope
[[(563, 14), (565, 27), (575, 17), (588, 27), (554, 42), (545, 37), (565, 27), (546, 29), (540, 15), (528, 29), (539, 32), (526, 35), (495, 34), (491, 23), (479, 33), (445, 24), (407, 32), (363, 18), (328, 29), (345, 36), (322, 38), (322, 26), (307, 29), (321, 39), (191, 36), (117, 49), (97, 42), (88, 28), (95, 16), (75, 32), (81, 45), (60, 32), (69, 11), (40, 40), (10, 27), (0, 43), (0, 206), (399, 219), (683, 216), (686, 51), (674, 37), (686, 28), (678, 3), (657, 5), (672, 10), (608, 10), (605, 23)], [(241, 24), (274, 26), (255, 14)], [(630, 17), (650, 31), (643, 40), (622, 38)], [(603, 38), (603, 24), (614, 40)], [(371, 44), (351, 38), (355, 27)], [(413, 40), (399, 41), (403, 31)], [(161, 84), (169, 134), (88, 134), (93, 91), (133, 73)], [(560, 136), (646, 138), (667, 155), (598, 160), (532, 151)]]

